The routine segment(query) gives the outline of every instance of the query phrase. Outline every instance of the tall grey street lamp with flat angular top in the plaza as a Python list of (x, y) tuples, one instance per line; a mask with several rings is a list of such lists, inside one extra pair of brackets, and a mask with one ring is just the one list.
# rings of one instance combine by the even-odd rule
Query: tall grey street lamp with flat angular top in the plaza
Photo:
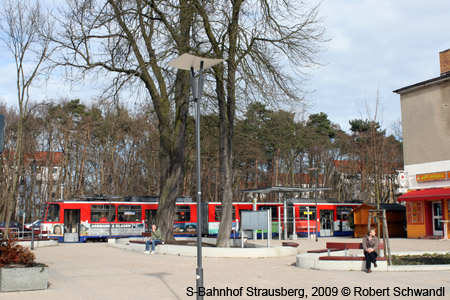
[[(197, 299), (203, 299), (199, 295), (199, 290), (203, 287), (203, 267), (202, 267), (202, 222), (201, 222), (201, 166), (200, 166), (200, 100), (203, 93), (203, 71), (214, 65), (223, 62), (223, 59), (211, 59), (194, 56), (188, 53), (169, 62), (169, 65), (181, 69), (191, 71), (191, 89), (192, 97), (196, 102), (195, 113), (195, 148), (196, 148), (196, 164), (197, 164)], [(198, 71), (195, 74), (195, 71)]]

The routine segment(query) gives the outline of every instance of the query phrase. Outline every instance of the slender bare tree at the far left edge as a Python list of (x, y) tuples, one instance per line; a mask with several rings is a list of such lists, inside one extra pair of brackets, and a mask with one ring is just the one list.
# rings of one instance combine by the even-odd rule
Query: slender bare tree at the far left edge
[[(7, 232), (17, 202), (22, 166), (23, 125), (29, 110), (30, 88), (42, 75), (43, 65), (51, 54), (52, 26), (39, 1), (4, 1), (1, 7), (0, 40), (12, 55), (16, 66), (16, 88), (19, 108), (17, 141), (14, 152), (12, 189), (6, 203), (5, 232)], [(44, 37), (46, 36), (46, 37)]]

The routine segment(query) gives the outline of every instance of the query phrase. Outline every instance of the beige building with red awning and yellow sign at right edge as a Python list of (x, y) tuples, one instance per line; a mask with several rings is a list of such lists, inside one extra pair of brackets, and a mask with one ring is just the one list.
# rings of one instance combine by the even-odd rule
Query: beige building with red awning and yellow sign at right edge
[(394, 91), (405, 162), (398, 201), (406, 202), (409, 238), (450, 237), (450, 49), (439, 58), (439, 77)]

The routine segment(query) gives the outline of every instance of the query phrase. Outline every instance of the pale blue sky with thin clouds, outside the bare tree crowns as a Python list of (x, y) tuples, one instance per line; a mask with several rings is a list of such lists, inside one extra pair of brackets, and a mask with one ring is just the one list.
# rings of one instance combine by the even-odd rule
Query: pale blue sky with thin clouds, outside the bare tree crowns
[[(309, 72), (310, 112), (324, 112), (348, 131), (349, 120), (374, 118), (378, 98), (377, 121), (389, 130), (401, 119), (400, 96), (392, 91), (440, 75), (439, 52), (450, 48), (450, 1), (321, 2), (330, 41), (319, 56), (322, 66)], [(8, 105), (17, 102), (14, 74), (8, 53), (0, 51), (0, 102)], [(36, 90), (43, 100), (48, 95), (90, 99), (98, 92), (93, 81), (77, 87), (54, 81)]]

